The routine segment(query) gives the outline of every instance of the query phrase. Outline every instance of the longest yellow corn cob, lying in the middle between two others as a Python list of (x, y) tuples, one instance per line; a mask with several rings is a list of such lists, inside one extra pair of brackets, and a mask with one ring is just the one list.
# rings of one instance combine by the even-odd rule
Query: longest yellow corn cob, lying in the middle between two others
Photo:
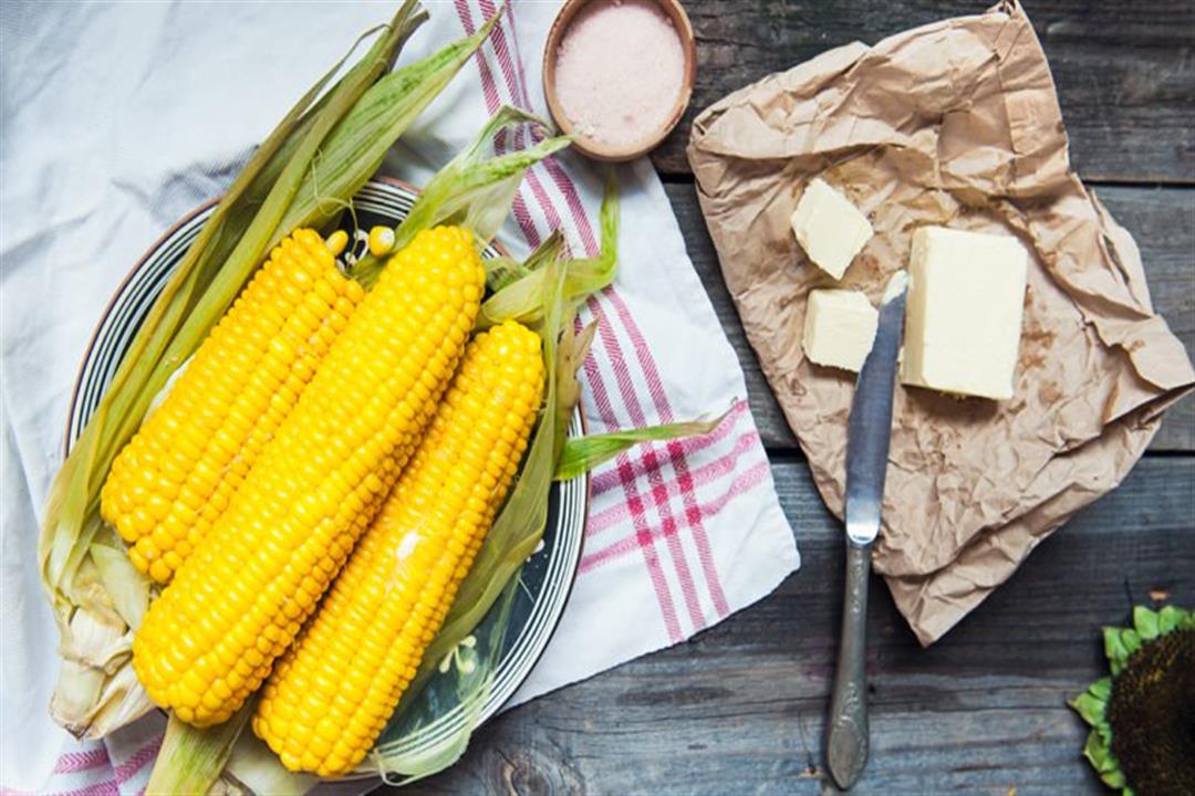
[(149, 605), (133, 665), (183, 721), (226, 721), (290, 644), (415, 450), (477, 316), (472, 235), (419, 233), (332, 345), (228, 510)]

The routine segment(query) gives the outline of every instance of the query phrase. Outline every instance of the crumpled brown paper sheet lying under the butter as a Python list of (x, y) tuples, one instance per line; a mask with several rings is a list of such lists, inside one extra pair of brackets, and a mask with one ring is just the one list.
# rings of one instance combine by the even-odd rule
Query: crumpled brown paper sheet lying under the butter
[(747, 335), (839, 516), (854, 380), (801, 348), (805, 296), (831, 284), (789, 228), (803, 186), (821, 175), (871, 220), (842, 284), (876, 303), (919, 226), (1030, 249), (1012, 400), (897, 388), (874, 561), (924, 644), (1115, 487), (1195, 382), (1132, 236), (1070, 168), (1046, 56), (1015, 4), (765, 78), (697, 118), (688, 156)]

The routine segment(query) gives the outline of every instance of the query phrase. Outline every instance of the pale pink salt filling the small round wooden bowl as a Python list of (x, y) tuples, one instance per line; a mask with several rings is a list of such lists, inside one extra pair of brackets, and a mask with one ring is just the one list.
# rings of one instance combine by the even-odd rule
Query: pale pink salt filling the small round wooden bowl
[(685, 76), (680, 35), (652, 0), (594, 0), (564, 32), (556, 95), (586, 137), (625, 148), (668, 123)]

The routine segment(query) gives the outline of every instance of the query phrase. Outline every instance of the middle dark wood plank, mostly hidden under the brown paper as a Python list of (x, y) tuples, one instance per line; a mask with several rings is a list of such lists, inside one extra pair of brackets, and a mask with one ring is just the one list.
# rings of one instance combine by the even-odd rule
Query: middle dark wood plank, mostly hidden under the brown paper
[[(791, 449), (796, 438), (789, 430), (779, 405), (760, 372), (755, 352), (747, 343), (742, 323), (718, 266), (713, 242), (697, 203), (692, 184), (667, 186), (668, 198), (685, 230), (688, 254), (705, 284), (705, 290), (739, 352), (747, 376), (747, 394), (764, 444), (770, 449)], [(1102, 186), (1097, 193), (1113, 215), (1136, 237), (1141, 247), (1154, 307), (1195, 354), (1195, 189), (1151, 189)], [(1172, 407), (1163, 421), (1151, 450), (1195, 450), (1195, 400), (1190, 396)]]

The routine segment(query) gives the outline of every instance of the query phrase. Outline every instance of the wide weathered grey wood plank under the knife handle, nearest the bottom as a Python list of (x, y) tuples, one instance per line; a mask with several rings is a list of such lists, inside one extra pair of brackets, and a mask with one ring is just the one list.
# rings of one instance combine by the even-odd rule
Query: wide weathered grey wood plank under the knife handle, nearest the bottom
[[(516, 708), (411, 794), (817, 794), (841, 530), (807, 467), (773, 463), (802, 569), (693, 641)], [(1195, 458), (1147, 458), (921, 649), (874, 581), (872, 755), (852, 792), (1102, 792), (1065, 701), (1101, 675), (1102, 624), (1151, 591), (1195, 604)]]

